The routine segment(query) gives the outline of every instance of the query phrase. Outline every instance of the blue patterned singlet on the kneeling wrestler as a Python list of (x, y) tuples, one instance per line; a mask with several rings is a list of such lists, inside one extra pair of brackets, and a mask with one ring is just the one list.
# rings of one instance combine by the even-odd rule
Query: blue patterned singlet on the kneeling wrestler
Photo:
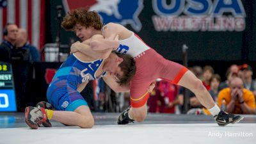
[(104, 60), (81, 61), (74, 54), (68, 56), (61, 65), (47, 90), (47, 99), (56, 110), (74, 111), (79, 106), (88, 106), (87, 102), (77, 92), (80, 84), (99, 79), (96, 72)]

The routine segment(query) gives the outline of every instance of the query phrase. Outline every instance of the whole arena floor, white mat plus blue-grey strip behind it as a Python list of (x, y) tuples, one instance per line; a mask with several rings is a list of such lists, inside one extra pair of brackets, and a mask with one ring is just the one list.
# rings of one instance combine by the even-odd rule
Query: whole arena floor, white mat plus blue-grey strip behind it
[(211, 116), (148, 114), (145, 122), (117, 125), (118, 113), (93, 113), (92, 129), (64, 126), (29, 129), (24, 113), (0, 113), (0, 144), (10, 143), (255, 143), (256, 115), (219, 127)]

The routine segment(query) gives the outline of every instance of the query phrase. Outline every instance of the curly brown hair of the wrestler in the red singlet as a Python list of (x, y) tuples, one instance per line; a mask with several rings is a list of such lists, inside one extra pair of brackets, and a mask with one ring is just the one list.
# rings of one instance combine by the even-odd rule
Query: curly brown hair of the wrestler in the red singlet
[(62, 28), (67, 31), (73, 31), (76, 24), (81, 24), (85, 28), (92, 26), (97, 30), (102, 29), (103, 26), (99, 13), (95, 11), (90, 12), (87, 8), (77, 8), (76, 10), (71, 10), (63, 18), (63, 22), (61, 22)]

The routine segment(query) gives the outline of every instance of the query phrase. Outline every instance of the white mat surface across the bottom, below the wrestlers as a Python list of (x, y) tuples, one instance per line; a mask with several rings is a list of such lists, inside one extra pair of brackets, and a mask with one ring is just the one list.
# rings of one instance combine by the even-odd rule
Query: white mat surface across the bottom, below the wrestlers
[(26, 144), (236, 144), (256, 143), (255, 124), (219, 127), (216, 124), (95, 125), (92, 129), (26, 127), (0, 129), (0, 143)]

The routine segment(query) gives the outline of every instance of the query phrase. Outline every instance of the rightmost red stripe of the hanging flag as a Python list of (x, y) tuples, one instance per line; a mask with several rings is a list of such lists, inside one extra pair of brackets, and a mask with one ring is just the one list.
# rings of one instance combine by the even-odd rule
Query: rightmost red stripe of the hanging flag
[(45, 42), (45, 0), (41, 0), (40, 7), (40, 35), (39, 35), (39, 47), (38, 49), (42, 49)]

